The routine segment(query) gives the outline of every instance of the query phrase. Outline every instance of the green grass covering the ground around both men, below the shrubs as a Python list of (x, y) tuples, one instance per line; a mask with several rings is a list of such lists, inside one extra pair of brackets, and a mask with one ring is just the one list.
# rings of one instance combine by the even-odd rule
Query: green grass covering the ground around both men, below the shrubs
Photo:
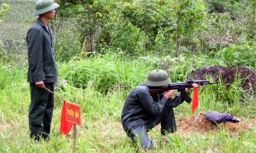
[[(77, 126), (77, 152), (143, 151), (126, 137), (122, 130), (120, 113), (127, 94), (145, 79), (149, 69), (154, 68), (147, 66), (146, 60), (128, 62), (116, 56), (73, 60), (61, 66), (58, 63), (60, 81), (66, 80), (67, 84), (62, 88), (56, 88), (56, 94), (82, 107), (82, 125)], [(92, 71), (93, 67), (94, 71)], [(2, 144), (0, 150), (2, 152), (71, 152), (73, 132), (71, 131), (68, 137), (58, 134), (62, 100), (57, 97), (55, 97), (51, 141), (38, 144), (30, 140), (28, 130), (30, 93), (29, 84), (26, 82), (26, 70), (26, 66), (13, 67), (10, 63), (1, 62), (0, 105), (3, 107), (0, 108), (0, 143)], [(88, 75), (84, 77), (87, 81), (83, 83), (86, 88), (81, 88), (83, 85), (74, 87), (72, 84), (75, 82), (73, 79), (77, 78), (76, 70), (84, 76)], [(99, 79), (95, 78), (101, 78), (103, 80), (101, 83), (113, 82), (113, 85), (114, 83), (121, 85), (117, 88), (110, 86), (109, 92), (100, 92)], [(127, 87), (126, 84), (130, 86)], [(245, 121), (255, 119), (255, 98), (245, 95), (246, 99), (229, 104), (228, 101), (221, 100), (223, 98), (218, 99), (217, 95), (225, 93), (226, 90), (219, 86), (221, 85), (207, 85), (206, 88), (200, 89), (200, 106), (196, 113), (218, 111), (233, 113)], [(241, 92), (238, 90), (230, 98), (240, 95)], [(176, 108), (175, 112), (177, 120), (180, 117), (189, 117), (190, 105), (184, 103)], [(174, 143), (163, 144), (160, 131), (156, 128), (150, 132), (150, 136), (157, 143), (157, 147), (148, 152), (253, 152), (256, 148), (255, 130), (254, 126), (252, 131), (245, 129), (242, 130), (243, 133), (234, 136), (225, 130), (220, 130), (219, 133), (209, 132), (209, 134), (173, 134), (169, 135), (169, 138)]]

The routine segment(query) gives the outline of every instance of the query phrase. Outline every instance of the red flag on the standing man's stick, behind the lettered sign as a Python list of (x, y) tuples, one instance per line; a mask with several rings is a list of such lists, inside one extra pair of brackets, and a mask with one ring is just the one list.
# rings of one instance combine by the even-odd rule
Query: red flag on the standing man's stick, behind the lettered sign
[(64, 100), (63, 107), (62, 107), (62, 114), (61, 114), (59, 134), (63, 133), (63, 134), (65, 134), (67, 136), (69, 134), (72, 126), (73, 126), (73, 123), (67, 121), (66, 101)]

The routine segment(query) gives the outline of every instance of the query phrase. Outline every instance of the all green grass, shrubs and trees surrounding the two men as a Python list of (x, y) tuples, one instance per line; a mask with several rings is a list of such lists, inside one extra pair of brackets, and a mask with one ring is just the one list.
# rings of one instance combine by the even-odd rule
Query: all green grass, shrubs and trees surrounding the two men
[[(72, 152), (72, 131), (68, 137), (58, 134), (63, 102), (58, 97), (52, 139), (34, 143), (29, 138), (26, 33), (36, 19), (32, 16), (35, 2), (0, 0), (0, 5), (9, 5), (0, 18), (0, 47), (6, 50), (0, 49), (0, 152)], [(81, 105), (77, 152), (143, 151), (126, 137), (120, 113), (125, 97), (153, 69), (164, 69), (173, 82), (183, 82), (206, 65), (256, 68), (254, 0), (180, 1), (184, 8), (179, 10), (175, 8), (182, 5), (176, 1), (67, 2), (71, 1), (61, 1), (68, 10), (60, 6), (52, 22), (59, 81), (67, 82), (56, 87), (56, 94)], [(167, 4), (175, 5), (168, 8)], [(194, 6), (198, 6), (196, 14), (191, 11)], [(92, 13), (86, 18), (93, 22), (79, 19), (84, 17), (82, 8)], [(136, 13), (129, 15), (132, 12)], [(182, 17), (187, 13), (190, 16)], [(148, 22), (144, 23), (143, 18)], [(82, 27), (85, 23), (86, 27)], [(180, 27), (185, 23), (186, 27)], [(223, 83), (201, 88), (196, 113), (231, 113), (245, 123), (255, 123), (255, 96), (239, 84), (240, 80), (236, 80), (229, 89)], [(181, 117), (190, 117), (191, 105), (184, 103), (175, 113), (177, 122)], [(148, 152), (254, 152), (255, 133), (255, 125), (238, 133), (220, 127), (218, 133), (169, 135), (173, 143), (164, 144), (159, 129), (154, 129), (149, 134), (157, 147)]]

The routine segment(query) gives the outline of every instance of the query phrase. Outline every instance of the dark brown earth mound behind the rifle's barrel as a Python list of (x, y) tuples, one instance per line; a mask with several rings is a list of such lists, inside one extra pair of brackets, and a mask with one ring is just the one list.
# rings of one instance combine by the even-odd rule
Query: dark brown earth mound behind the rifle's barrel
[(254, 94), (256, 93), (256, 73), (246, 65), (229, 67), (219, 65), (205, 66), (193, 73), (187, 81), (206, 80), (206, 78), (212, 78), (214, 81), (221, 79), (223, 83), (227, 84), (227, 87), (238, 78), (242, 80), (241, 86), (243, 89), (249, 91), (253, 89)]

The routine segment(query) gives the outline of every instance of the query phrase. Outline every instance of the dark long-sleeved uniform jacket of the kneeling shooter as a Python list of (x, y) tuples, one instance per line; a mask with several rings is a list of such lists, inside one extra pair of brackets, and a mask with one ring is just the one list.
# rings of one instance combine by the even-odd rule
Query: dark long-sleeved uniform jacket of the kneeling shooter
[(183, 103), (181, 94), (167, 99), (163, 94), (151, 96), (150, 88), (138, 85), (126, 98), (121, 114), (123, 129), (135, 128), (138, 124), (147, 124), (148, 120), (163, 111), (164, 107), (175, 108)]

